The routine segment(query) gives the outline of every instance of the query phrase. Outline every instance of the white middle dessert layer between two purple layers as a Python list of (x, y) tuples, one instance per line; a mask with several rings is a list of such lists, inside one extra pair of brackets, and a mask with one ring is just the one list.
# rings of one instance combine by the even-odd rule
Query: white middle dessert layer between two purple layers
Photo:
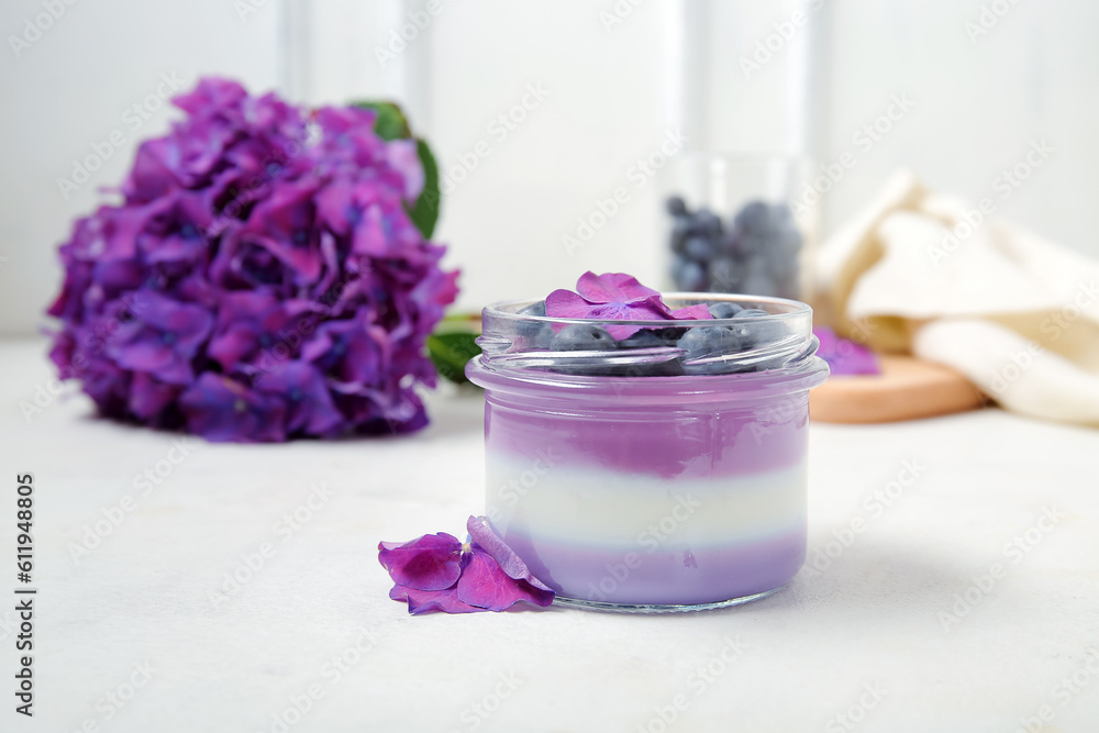
[(737, 544), (806, 521), (806, 463), (733, 478), (660, 479), (489, 454), (487, 514), (503, 533), (586, 547)]

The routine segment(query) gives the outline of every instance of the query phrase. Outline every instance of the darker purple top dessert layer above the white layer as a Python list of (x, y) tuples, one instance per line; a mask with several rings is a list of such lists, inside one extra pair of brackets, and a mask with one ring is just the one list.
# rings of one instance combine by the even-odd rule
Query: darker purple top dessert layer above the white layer
[[(800, 399), (796, 399), (800, 398)], [(788, 468), (806, 455), (808, 393), (780, 402), (650, 404), (537, 410), (500, 400), (485, 404), (488, 454), (534, 462), (550, 452), (567, 466), (592, 466), (660, 478), (735, 477)]]

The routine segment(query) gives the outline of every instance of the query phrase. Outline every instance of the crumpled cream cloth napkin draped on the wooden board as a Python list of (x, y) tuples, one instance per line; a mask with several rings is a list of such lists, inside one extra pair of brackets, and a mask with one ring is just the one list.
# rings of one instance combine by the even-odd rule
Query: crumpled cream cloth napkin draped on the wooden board
[(819, 276), (840, 333), (953, 367), (1009, 410), (1099, 425), (1099, 262), (901, 171), (824, 243)]

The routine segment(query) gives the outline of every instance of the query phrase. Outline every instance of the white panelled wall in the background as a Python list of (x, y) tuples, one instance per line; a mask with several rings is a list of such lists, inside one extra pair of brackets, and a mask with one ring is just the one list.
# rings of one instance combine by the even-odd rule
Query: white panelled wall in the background
[[(452, 170), (487, 142), (489, 155), (445, 199), (439, 231), (469, 308), (541, 295), (589, 268), (657, 279), (660, 181), (635, 188), (628, 176), (676, 126), (691, 147), (808, 151), (821, 162), (856, 152), (823, 199), (825, 230), (899, 166), (976, 198), (1045, 138), (1054, 153), (997, 198), (998, 212), (1099, 256), (1099, 4), (1088, 0), (441, 0), (385, 64), (375, 48), (424, 0), (60, 0), (64, 14), (16, 55), (10, 36), (42, 2), (0, 10), (0, 333), (46, 323), (55, 246), (103, 200), (96, 189), (122, 179), (137, 140), (174, 114), (162, 108), (132, 134), (123, 123), (162, 74), (191, 85), (217, 73), (314, 103), (396, 98)], [(242, 5), (255, 12), (242, 18)], [(970, 38), (983, 5), (1004, 12), (986, 14), (995, 25)], [(608, 24), (615, 8), (624, 16)], [(746, 78), (741, 58), (798, 10), (809, 23)], [(528, 85), (548, 93), (493, 136), (488, 125)], [(892, 95), (908, 95), (912, 111), (857, 148), (852, 136)], [(64, 198), (57, 178), (115, 129), (125, 144)], [(619, 186), (629, 203), (569, 252), (563, 237)]]

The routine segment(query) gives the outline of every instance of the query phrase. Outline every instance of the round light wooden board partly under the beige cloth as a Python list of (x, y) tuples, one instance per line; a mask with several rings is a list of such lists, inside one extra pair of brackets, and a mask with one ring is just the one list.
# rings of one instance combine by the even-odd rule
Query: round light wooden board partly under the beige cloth
[(984, 404), (980, 391), (954, 369), (911, 356), (880, 358), (880, 375), (833, 376), (811, 390), (810, 418), (839, 423), (897, 422)]

